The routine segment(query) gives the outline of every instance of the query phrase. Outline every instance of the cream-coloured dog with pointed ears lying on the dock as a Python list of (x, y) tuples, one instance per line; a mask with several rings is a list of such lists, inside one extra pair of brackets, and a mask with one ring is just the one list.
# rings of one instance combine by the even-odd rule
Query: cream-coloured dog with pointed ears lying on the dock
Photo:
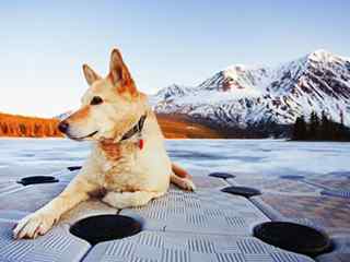
[(22, 218), (13, 236), (45, 235), (67, 211), (100, 195), (116, 209), (142, 206), (164, 195), (170, 182), (194, 191), (187, 171), (173, 164), (147, 95), (139, 92), (118, 49), (113, 49), (109, 73), (101, 78), (88, 64), (89, 90), (80, 109), (58, 126), (68, 138), (93, 141), (80, 172), (48, 204)]

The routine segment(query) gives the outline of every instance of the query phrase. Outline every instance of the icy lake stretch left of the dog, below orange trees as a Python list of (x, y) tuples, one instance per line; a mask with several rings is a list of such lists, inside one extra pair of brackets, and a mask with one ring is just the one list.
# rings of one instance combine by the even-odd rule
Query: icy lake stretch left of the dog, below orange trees
[(0, 139), (0, 181), (80, 165), (89, 148), (89, 143), (65, 139)]

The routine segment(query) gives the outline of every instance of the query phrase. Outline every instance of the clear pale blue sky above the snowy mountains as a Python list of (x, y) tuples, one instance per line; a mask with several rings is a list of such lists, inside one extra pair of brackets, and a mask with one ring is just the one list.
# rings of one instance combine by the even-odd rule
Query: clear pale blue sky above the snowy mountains
[(118, 47), (138, 88), (197, 85), (230, 64), (275, 66), (316, 49), (350, 57), (350, 1), (2, 1), (0, 111), (79, 106), (81, 66), (107, 74)]

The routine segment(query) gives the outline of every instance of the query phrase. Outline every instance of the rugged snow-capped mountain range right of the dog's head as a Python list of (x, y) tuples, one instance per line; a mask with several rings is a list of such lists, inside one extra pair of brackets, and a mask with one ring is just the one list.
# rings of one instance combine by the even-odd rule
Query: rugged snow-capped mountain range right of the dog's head
[(231, 66), (198, 86), (165, 87), (152, 102), (159, 114), (229, 128), (290, 124), (313, 110), (350, 126), (350, 59), (316, 50), (276, 68)]

